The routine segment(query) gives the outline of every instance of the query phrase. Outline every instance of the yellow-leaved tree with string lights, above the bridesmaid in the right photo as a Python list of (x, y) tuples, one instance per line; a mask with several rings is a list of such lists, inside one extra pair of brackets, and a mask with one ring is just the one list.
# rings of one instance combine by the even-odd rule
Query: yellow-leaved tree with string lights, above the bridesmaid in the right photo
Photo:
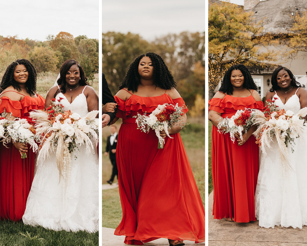
[(261, 24), (255, 24), (252, 15), (226, 2), (209, 7), (209, 98), (233, 64), (266, 67), (268, 61), (275, 59), (276, 53), (264, 51), (266, 46), (273, 44), (273, 36), (262, 35)]

